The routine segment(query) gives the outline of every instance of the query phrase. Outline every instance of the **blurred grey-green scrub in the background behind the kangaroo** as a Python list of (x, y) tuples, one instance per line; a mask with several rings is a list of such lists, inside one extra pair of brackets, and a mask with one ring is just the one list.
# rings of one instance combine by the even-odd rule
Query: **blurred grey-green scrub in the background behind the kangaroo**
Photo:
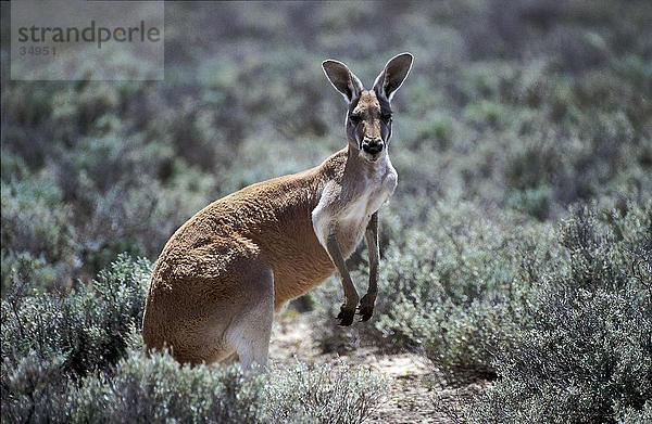
[[(462, 197), (550, 219), (578, 201), (642, 197), (652, 190), (649, 8), (551, 4), (171, 5), (163, 81), (8, 80), (2, 181), (45, 172), (74, 248), (51, 258), (3, 236), (4, 257), (48, 269), (43, 288), (93, 275), (124, 250), (153, 260), (211, 200), (318, 164), (344, 145), (323, 52), (367, 85), (388, 50), (415, 53), (394, 100), (398, 202)], [(354, 36), (366, 21), (387, 25)], [(147, 73), (104, 55), (114, 76)], [(100, 72), (77, 69), (87, 70)]]

